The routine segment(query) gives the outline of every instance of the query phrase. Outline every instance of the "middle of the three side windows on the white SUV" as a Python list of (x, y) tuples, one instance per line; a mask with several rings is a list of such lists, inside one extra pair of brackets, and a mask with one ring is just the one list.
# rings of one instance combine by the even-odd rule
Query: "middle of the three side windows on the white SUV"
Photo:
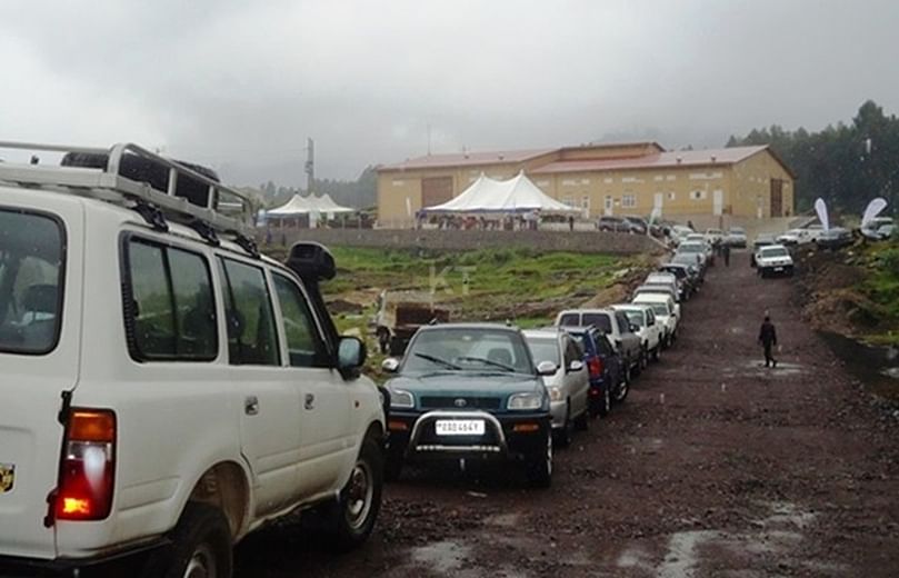
[(266, 272), (221, 257), (219, 270), (228, 321), (229, 362), (232, 366), (281, 365)]

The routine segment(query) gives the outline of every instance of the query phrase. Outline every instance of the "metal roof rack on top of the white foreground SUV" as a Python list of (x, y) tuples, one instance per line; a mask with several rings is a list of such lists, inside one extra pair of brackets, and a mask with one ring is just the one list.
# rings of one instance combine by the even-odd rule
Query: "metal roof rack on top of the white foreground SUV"
[[(118, 143), (109, 149), (68, 147), (59, 144), (44, 144), (34, 142), (0, 141), (0, 149), (14, 149), (26, 151), (49, 151), (63, 155), (100, 156), (102, 168), (97, 165), (87, 167), (73, 166), (41, 166), (32, 157), (31, 165), (8, 163), (0, 161), (0, 182), (11, 182), (22, 187), (48, 188), (58, 192), (90, 197), (116, 205), (133, 201), (130, 207), (138, 210), (141, 216), (151, 212), (156, 215), (148, 219), (150, 225), (164, 226), (161, 216), (176, 222), (181, 222), (218, 233), (233, 233), (240, 242), (246, 239), (249, 225), (252, 222), (252, 202), (250, 198), (230, 187), (227, 187), (207, 175), (188, 167), (182, 162), (167, 159), (131, 142)], [(154, 165), (157, 169), (167, 170), (167, 190), (152, 187), (149, 182), (133, 180), (122, 175), (123, 161), (133, 160), (132, 157)], [(191, 180), (207, 187), (204, 205), (190, 202), (187, 198), (177, 196), (178, 180)], [(158, 211), (147, 211), (147, 205)], [(203, 235), (210, 238), (210, 235)]]

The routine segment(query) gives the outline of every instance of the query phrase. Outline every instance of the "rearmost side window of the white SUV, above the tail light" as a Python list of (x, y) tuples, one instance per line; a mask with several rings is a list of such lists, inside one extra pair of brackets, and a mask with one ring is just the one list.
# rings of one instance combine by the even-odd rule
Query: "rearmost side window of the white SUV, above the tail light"
[(138, 361), (211, 361), (219, 353), (212, 281), (198, 253), (131, 237), (126, 329)]

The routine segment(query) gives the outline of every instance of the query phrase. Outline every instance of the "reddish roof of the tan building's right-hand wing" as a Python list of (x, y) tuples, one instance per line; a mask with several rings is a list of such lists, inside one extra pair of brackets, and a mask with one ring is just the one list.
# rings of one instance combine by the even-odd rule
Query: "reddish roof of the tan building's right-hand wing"
[[(707, 167), (710, 165), (733, 165), (768, 149), (762, 147), (731, 147), (727, 149), (677, 150), (618, 159), (559, 160), (538, 167), (531, 172), (548, 175), (555, 172), (582, 172), (597, 170), (627, 170), (678, 167)], [(778, 162), (780, 160), (778, 159)], [(782, 165), (782, 162), (781, 162)], [(785, 167), (786, 168), (786, 167)], [(789, 169), (787, 169), (789, 170)]]

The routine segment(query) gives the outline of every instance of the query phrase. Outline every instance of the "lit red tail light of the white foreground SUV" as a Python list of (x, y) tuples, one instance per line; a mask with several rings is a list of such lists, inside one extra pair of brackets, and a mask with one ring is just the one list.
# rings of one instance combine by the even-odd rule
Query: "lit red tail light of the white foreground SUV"
[(63, 439), (56, 519), (102, 520), (112, 508), (116, 413), (72, 408)]

